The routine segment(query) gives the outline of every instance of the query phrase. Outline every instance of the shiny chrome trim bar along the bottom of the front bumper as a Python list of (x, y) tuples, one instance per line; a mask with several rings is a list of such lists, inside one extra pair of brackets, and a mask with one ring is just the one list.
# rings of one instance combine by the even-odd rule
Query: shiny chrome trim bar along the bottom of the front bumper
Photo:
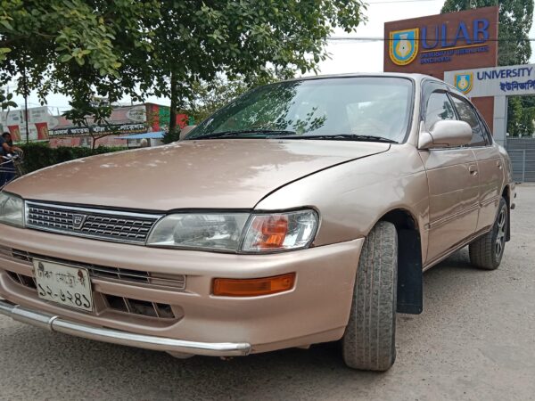
[(251, 344), (245, 342), (185, 341), (106, 329), (65, 320), (59, 316), (21, 307), (2, 299), (0, 299), (0, 315), (6, 315), (18, 322), (29, 323), (42, 329), (128, 347), (203, 356), (245, 356), (251, 352)]

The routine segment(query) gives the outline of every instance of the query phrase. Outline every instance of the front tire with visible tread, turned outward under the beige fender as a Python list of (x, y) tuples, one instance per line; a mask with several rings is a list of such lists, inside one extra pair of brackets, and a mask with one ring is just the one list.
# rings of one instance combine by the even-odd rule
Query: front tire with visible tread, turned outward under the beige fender
[(350, 319), (342, 338), (345, 364), (386, 371), (396, 359), (398, 233), (379, 222), (366, 236), (358, 260)]

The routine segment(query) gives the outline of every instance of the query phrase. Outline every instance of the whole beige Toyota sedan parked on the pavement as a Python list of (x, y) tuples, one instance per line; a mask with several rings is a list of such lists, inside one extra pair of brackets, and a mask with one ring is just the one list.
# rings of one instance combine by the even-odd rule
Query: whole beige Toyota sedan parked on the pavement
[(424, 271), (465, 246), (496, 269), (513, 207), (506, 151), (444, 82), (280, 82), (180, 142), (8, 184), (0, 313), (177, 357), (340, 341), (384, 371)]

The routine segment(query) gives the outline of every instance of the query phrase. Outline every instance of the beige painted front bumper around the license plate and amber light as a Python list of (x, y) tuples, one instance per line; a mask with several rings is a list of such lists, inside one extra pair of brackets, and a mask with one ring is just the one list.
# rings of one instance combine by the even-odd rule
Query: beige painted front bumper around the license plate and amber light
[[(177, 290), (92, 278), (95, 299), (99, 299), (100, 294), (110, 294), (115, 298), (167, 304), (175, 318), (128, 314), (111, 309), (103, 301), (96, 303), (94, 313), (86, 313), (39, 299), (37, 291), (13, 281), (12, 274), (31, 277), (31, 263), (4, 257), (0, 252), (0, 297), (39, 314), (58, 316), (60, 320), (56, 318), (49, 327), (54, 331), (67, 330), (62, 323), (57, 323), (65, 321), (78, 327), (105, 329), (105, 336), (99, 331), (99, 338), (91, 337), (95, 340), (108, 341), (106, 339), (111, 337), (107, 334), (119, 332), (146, 336), (151, 339), (147, 343), (158, 338), (179, 341), (177, 344), (250, 345), (246, 352), (240, 348), (239, 352), (245, 353), (339, 340), (348, 322), (358, 257), (364, 241), (358, 239), (272, 255), (235, 255), (153, 249), (7, 225), (0, 225), (0, 233), (1, 247), (40, 257), (111, 266), (129, 272), (185, 276), (185, 288)], [(213, 279), (217, 277), (259, 278), (292, 272), (296, 273), (292, 291), (248, 298), (211, 294)], [(88, 335), (80, 330), (70, 331), (70, 334)], [(141, 343), (132, 345), (144, 348)], [(177, 353), (202, 354), (195, 348), (187, 349), (189, 351)], [(218, 354), (210, 355), (234, 356), (235, 352), (234, 348), (221, 349)]]

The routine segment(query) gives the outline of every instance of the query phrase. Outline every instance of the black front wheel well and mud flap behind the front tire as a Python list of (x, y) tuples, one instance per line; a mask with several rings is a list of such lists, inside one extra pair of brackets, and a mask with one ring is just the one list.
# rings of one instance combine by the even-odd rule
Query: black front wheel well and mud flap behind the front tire
[(379, 221), (387, 221), (398, 232), (398, 299), (397, 312), (422, 313), (423, 265), (422, 241), (417, 219), (407, 209), (391, 209)]

